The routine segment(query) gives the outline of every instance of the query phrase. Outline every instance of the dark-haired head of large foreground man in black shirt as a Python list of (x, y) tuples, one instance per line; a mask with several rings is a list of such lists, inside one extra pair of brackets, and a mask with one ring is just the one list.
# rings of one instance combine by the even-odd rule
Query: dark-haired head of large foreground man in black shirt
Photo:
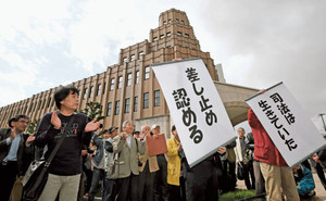
[(79, 90), (75, 87), (61, 87), (54, 93), (54, 102), (59, 110), (62, 108), (75, 111), (78, 109)]

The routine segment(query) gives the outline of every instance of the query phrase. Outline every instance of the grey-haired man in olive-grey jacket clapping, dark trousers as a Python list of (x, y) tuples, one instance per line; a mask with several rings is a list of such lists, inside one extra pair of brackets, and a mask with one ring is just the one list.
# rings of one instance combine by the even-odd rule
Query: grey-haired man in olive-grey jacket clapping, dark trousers
[(138, 153), (145, 152), (145, 142), (133, 137), (134, 124), (126, 121), (123, 133), (113, 140), (113, 150), (120, 153), (120, 172), (116, 179), (115, 201), (138, 200)]

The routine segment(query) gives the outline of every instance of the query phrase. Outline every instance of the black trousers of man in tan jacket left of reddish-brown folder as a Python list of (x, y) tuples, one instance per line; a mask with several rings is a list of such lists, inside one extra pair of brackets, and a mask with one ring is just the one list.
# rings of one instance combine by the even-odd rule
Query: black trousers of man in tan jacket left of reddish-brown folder
[(142, 172), (139, 172), (139, 201), (152, 201), (154, 199), (155, 172), (150, 173), (148, 161)]

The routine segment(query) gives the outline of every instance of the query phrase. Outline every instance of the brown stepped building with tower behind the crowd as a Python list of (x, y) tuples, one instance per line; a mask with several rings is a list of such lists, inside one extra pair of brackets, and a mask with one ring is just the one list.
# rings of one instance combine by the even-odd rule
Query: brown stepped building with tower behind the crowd
[[(79, 109), (90, 101), (103, 105), (104, 127), (121, 127), (124, 121), (134, 120), (138, 129), (142, 124), (159, 123), (168, 133), (170, 112), (151, 70), (153, 63), (201, 58), (212, 79), (218, 80), (214, 62), (209, 52), (201, 51), (186, 13), (175, 9), (161, 13), (159, 27), (150, 30), (149, 39), (121, 49), (118, 56), (118, 63), (105, 72), (72, 83), (80, 90)], [(57, 88), (1, 108), (1, 126), (16, 114), (26, 114), (34, 121), (57, 110), (53, 100)]]

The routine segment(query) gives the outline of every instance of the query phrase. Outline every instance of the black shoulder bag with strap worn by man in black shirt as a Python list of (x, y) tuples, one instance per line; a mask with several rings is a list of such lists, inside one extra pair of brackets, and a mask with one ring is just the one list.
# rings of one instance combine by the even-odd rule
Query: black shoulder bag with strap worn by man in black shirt
[(22, 183), (23, 183), (23, 201), (37, 201), (40, 197), (40, 194), (43, 191), (43, 188), (48, 180), (49, 175), (49, 166), (54, 159), (57, 152), (59, 151), (66, 133), (71, 125), (73, 124), (73, 121), (75, 118), (75, 115), (72, 116), (67, 126), (64, 128), (64, 131), (58, 141), (55, 148), (51, 152), (49, 159), (47, 161), (34, 161), (30, 163)]

